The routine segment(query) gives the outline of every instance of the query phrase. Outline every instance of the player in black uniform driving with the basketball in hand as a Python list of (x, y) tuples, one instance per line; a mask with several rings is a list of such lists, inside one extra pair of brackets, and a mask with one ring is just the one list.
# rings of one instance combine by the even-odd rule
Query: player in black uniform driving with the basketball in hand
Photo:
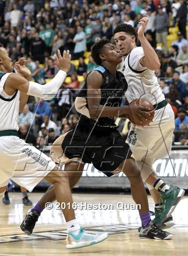
[[(140, 170), (127, 143), (117, 130), (114, 117), (135, 116), (144, 123), (150, 117), (150, 108), (140, 108), (136, 102), (120, 107), (128, 84), (116, 67), (122, 61), (120, 50), (109, 40), (100, 40), (91, 51), (99, 67), (86, 77), (85, 85), (75, 100), (79, 121), (67, 133), (61, 135), (51, 147), (54, 162), (65, 164), (70, 187), (73, 188), (81, 177), (85, 163), (92, 163), (98, 171), (108, 177), (123, 171), (131, 184), (132, 198), (141, 204), (139, 214), (142, 227), (141, 238), (171, 239), (172, 234), (153, 224), (147, 201), (147, 194)], [(46, 202), (56, 200), (54, 186), (51, 186), (38, 204), (26, 215), (21, 224), (25, 233), (31, 234)]]

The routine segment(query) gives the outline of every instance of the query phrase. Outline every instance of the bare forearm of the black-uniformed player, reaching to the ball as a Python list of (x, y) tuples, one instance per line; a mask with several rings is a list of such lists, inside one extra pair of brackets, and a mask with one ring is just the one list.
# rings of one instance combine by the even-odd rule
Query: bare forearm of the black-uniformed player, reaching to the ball
[(109, 106), (98, 105), (97, 108), (95, 107), (95, 108), (92, 108), (92, 110), (90, 110), (91, 117), (120, 117), (129, 113), (130, 113), (130, 110), (128, 106), (109, 107)]

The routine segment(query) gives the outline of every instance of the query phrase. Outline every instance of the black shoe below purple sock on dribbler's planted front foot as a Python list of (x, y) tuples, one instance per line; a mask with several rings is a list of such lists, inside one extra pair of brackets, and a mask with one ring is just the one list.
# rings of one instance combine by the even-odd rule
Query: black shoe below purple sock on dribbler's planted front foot
[(145, 228), (141, 227), (139, 237), (140, 238), (167, 240), (167, 239), (172, 238), (172, 234), (159, 229), (158, 227), (156, 227), (153, 224), (153, 222), (151, 220)]

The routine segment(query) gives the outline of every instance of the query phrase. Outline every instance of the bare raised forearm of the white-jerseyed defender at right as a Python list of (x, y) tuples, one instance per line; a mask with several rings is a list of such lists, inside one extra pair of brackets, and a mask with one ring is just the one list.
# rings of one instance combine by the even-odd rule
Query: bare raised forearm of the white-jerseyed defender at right
[(140, 36), (139, 40), (141, 42), (141, 46), (144, 51), (144, 60), (143, 65), (151, 70), (156, 70), (160, 67), (160, 62), (158, 56), (152, 46), (150, 45), (149, 41), (146, 39), (145, 36)]

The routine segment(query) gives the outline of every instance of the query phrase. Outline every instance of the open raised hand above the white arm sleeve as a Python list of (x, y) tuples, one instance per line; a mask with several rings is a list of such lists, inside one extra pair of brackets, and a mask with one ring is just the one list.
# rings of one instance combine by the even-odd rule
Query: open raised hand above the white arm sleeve
[(64, 50), (63, 56), (61, 56), (60, 50), (57, 50), (56, 65), (57, 67), (59, 67), (60, 70), (68, 73), (71, 65), (71, 54), (69, 50)]

